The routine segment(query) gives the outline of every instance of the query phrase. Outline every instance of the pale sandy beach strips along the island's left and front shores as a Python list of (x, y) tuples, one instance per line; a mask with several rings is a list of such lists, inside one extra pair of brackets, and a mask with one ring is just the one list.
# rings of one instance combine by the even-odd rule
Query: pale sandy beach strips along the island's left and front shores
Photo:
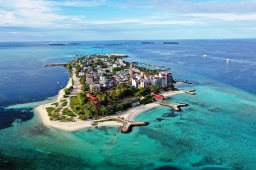
[[(58, 94), (57, 94), (57, 99), (54, 102), (60, 101), (64, 95), (64, 89), (68, 88), (72, 86), (72, 78), (69, 78), (68, 84), (67, 86), (65, 86), (63, 89), (61, 89)], [(182, 94), (184, 93), (183, 91), (172, 91), (172, 92), (164, 92), (162, 95), (164, 96), (164, 98), (168, 98), (172, 95), (176, 95), (176, 94)], [(52, 102), (51, 102), (52, 103)], [(51, 121), (49, 120), (49, 116), (47, 114), (46, 108), (47, 107), (51, 107), (51, 103), (47, 103), (47, 104), (42, 104), (39, 105), (38, 107), (36, 107), (34, 109), (34, 111), (36, 112), (36, 114), (39, 114), (40, 120), (43, 122), (44, 125), (46, 126), (50, 126), (56, 129), (60, 129), (60, 130), (64, 130), (64, 131), (77, 131), (77, 130), (81, 130), (84, 128), (91, 128), (93, 127), (92, 122), (94, 120), (88, 120), (88, 121), (82, 121), (77, 119), (76, 122), (60, 122), (60, 121)], [(112, 118), (112, 117), (123, 117), (125, 120), (128, 121), (134, 121), (135, 118), (145, 112), (148, 111), (149, 109), (155, 108), (155, 107), (159, 107), (160, 105), (157, 104), (156, 102), (154, 103), (149, 103), (146, 105), (139, 105), (137, 107), (134, 108), (130, 108), (127, 111), (121, 111), (118, 112), (116, 114), (114, 114), (113, 116), (106, 116), (104, 118)], [(120, 122), (115, 122), (115, 121), (105, 121), (105, 122), (100, 122), (97, 124), (97, 126), (121, 126), (122, 124)]]

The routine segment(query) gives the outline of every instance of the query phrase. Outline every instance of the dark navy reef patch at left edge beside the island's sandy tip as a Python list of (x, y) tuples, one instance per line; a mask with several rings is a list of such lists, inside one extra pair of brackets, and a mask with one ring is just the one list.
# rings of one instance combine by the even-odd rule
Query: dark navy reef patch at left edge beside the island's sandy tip
[(31, 120), (34, 117), (32, 108), (28, 109), (3, 109), (0, 108), (0, 130), (10, 128), (13, 122), (21, 124), (24, 121)]

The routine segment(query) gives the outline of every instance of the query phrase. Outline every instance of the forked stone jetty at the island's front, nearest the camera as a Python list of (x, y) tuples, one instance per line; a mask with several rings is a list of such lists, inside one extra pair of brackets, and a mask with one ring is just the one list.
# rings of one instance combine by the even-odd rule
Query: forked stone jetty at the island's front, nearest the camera
[(117, 122), (120, 122), (121, 124), (123, 124), (123, 126), (121, 128), (122, 133), (131, 132), (131, 129), (134, 126), (146, 126), (146, 125), (148, 125), (148, 122), (143, 122), (143, 121), (141, 121), (141, 122), (131, 122), (131, 121), (123, 120), (120, 117), (106, 118), (106, 119), (103, 119), (103, 120), (93, 121), (92, 125), (97, 125), (98, 122), (104, 122), (104, 121), (117, 121)]

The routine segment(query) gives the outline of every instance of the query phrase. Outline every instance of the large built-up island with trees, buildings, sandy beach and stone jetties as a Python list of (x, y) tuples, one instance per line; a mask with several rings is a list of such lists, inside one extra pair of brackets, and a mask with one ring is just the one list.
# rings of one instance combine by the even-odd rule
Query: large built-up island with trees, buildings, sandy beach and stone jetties
[[(72, 59), (67, 64), (48, 64), (67, 68), (70, 79), (59, 91), (53, 103), (35, 109), (44, 124), (62, 130), (75, 131), (90, 126), (122, 125), (128, 133), (133, 126), (148, 122), (134, 122), (147, 109), (166, 105), (180, 111), (187, 104), (172, 105), (162, 100), (180, 93), (172, 73), (146, 69), (137, 62), (127, 62), (123, 54), (93, 54)], [(155, 65), (152, 65), (155, 66)]]

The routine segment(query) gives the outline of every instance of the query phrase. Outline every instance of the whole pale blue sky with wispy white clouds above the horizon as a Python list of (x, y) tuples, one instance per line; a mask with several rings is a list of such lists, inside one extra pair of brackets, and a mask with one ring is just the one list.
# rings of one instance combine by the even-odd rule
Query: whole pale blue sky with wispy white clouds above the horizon
[(0, 0), (0, 41), (256, 38), (256, 0)]

